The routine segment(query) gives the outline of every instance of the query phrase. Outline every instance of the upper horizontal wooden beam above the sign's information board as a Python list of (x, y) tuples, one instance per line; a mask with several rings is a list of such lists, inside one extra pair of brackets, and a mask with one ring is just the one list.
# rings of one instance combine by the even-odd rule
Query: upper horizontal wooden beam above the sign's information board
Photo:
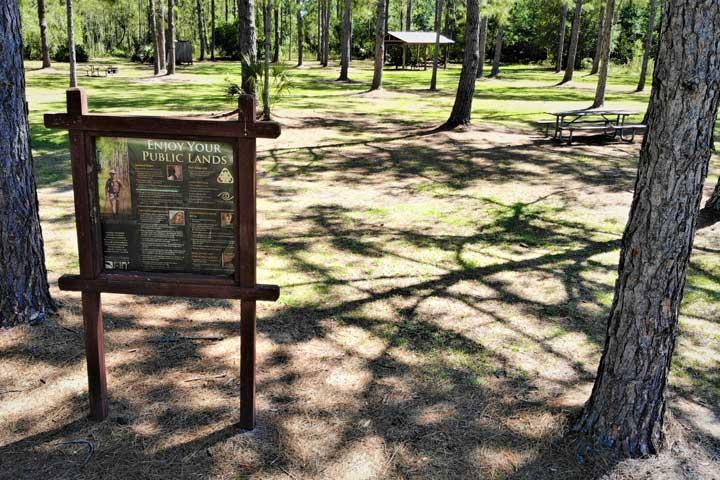
[(276, 122), (243, 122), (238, 120), (209, 120), (199, 118), (119, 116), (119, 115), (69, 115), (46, 113), (45, 126), (66, 130), (83, 130), (91, 133), (113, 135), (141, 134), (151, 136), (197, 136), (228, 138), (277, 138), (280, 125)]

